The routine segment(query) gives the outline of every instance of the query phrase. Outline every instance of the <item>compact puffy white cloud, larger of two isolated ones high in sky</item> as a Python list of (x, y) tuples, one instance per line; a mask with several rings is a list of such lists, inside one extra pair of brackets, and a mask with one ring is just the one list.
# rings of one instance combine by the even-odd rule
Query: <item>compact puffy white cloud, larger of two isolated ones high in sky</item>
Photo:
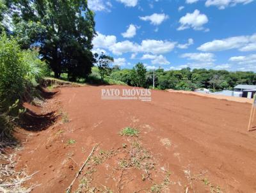
[(177, 30), (184, 30), (190, 27), (195, 30), (203, 30), (205, 29), (203, 26), (207, 24), (208, 18), (205, 14), (200, 14), (199, 10), (195, 10), (193, 13), (187, 13), (181, 17), (179, 22), (180, 27)]

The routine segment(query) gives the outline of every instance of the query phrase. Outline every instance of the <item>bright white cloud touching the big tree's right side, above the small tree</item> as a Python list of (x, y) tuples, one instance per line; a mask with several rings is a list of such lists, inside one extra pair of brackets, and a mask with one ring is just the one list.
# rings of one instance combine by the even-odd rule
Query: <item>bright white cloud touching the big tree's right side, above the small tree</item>
[(97, 32), (97, 36), (93, 38), (92, 43), (95, 48), (109, 49), (109, 47), (116, 43), (116, 36), (106, 36)]

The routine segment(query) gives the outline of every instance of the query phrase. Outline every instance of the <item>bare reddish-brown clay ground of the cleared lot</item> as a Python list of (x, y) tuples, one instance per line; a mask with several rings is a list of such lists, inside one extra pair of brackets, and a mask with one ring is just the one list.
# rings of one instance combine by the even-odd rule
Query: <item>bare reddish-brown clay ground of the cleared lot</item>
[[(251, 104), (168, 91), (152, 91), (152, 102), (102, 100), (102, 88), (128, 87), (58, 88), (44, 107), (26, 104), (60, 114), (26, 132), (19, 152), (17, 169), (38, 171), (26, 183), (33, 192), (65, 192), (93, 146), (72, 192), (256, 192)], [(138, 137), (120, 135), (125, 127)]]

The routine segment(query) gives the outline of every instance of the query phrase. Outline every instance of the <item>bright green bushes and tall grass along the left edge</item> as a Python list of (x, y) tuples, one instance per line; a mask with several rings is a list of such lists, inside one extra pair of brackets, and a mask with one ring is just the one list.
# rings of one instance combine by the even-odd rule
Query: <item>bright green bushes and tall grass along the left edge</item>
[(15, 38), (0, 35), (0, 140), (10, 134), (22, 98), (37, 86), (46, 69), (38, 52), (22, 50)]

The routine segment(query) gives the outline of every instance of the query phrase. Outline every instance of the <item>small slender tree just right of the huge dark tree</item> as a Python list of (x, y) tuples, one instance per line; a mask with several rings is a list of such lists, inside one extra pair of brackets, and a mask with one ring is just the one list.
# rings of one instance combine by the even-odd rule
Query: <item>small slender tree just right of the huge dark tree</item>
[(103, 52), (100, 54), (100, 56), (97, 53), (95, 53), (94, 56), (96, 64), (99, 68), (100, 79), (101, 81), (104, 81), (104, 76), (111, 73), (110, 63), (113, 63), (114, 59), (111, 56), (107, 56)]

